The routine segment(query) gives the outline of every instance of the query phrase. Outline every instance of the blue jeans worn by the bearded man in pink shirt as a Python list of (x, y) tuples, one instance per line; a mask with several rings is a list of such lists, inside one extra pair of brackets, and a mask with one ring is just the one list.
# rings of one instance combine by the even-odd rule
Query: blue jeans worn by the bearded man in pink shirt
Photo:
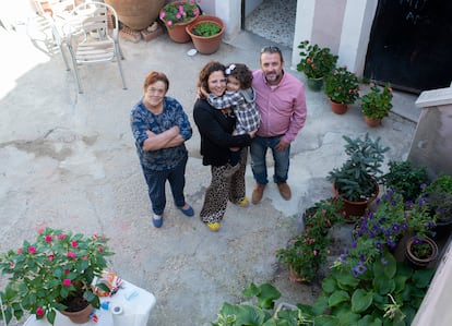
[(254, 174), (255, 182), (260, 184), (267, 184), (266, 162), (265, 156), (267, 148), (272, 149), (273, 159), (275, 161), (275, 170), (273, 181), (275, 183), (286, 182), (289, 168), (290, 145), (286, 150), (278, 152), (275, 149), (279, 143), (281, 136), (261, 137), (255, 136), (250, 146), (251, 154), (251, 169)]

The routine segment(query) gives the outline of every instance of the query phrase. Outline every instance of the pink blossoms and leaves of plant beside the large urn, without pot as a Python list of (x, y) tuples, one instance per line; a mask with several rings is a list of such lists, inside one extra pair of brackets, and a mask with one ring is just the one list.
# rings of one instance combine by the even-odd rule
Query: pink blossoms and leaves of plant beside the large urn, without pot
[(173, 27), (182, 24), (200, 15), (200, 0), (175, 1), (167, 3), (159, 14), (159, 19), (166, 26)]

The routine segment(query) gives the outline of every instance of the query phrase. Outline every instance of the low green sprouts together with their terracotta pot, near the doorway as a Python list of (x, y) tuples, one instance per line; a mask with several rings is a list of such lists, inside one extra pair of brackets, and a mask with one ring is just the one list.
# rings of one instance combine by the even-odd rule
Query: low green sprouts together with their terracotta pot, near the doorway
[(200, 15), (197, 21), (186, 27), (194, 48), (202, 55), (212, 55), (219, 49), (225, 24), (214, 15)]

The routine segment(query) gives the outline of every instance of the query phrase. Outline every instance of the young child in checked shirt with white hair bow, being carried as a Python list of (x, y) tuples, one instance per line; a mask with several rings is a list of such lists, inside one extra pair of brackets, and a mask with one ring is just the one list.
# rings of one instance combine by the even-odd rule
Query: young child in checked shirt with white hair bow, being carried
[[(241, 135), (258, 130), (261, 116), (254, 102), (254, 89), (251, 87), (252, 72), (246, 64), (233, 63), (225, 73), (227, 75), (226, 92), (221, 97), (209, 94), (210, 105), (218, 110), (230, 108), (234, 111), (237, 118), (234, 134)], [(231, 155), (225, 177), (233, 177), (240, 168), (240, 149), (230, 148)]]

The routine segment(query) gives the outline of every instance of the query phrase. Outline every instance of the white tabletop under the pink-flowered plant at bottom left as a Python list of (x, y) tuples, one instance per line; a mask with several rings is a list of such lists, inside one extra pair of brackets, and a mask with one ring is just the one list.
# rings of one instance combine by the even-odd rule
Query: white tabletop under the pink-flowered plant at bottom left
[[(73, 324), (68, 317), (57, 312), (53, 326), (146, 326), (151, 310), (154, 307), (156, 300), (154, 294), (141, 289), (126, 280), (122, 281), (119, 291), (112, 297), (100, 298), (100, 302), (109, 302), (109, 310), (96, 309), (97, 323), (90, 321), (85, 324)], [(120, 314), (111, 314), (115, 306), (120, 306)], [(49, 326), (46, 318), (36, 319), (32, 315), (24, 326)]]

